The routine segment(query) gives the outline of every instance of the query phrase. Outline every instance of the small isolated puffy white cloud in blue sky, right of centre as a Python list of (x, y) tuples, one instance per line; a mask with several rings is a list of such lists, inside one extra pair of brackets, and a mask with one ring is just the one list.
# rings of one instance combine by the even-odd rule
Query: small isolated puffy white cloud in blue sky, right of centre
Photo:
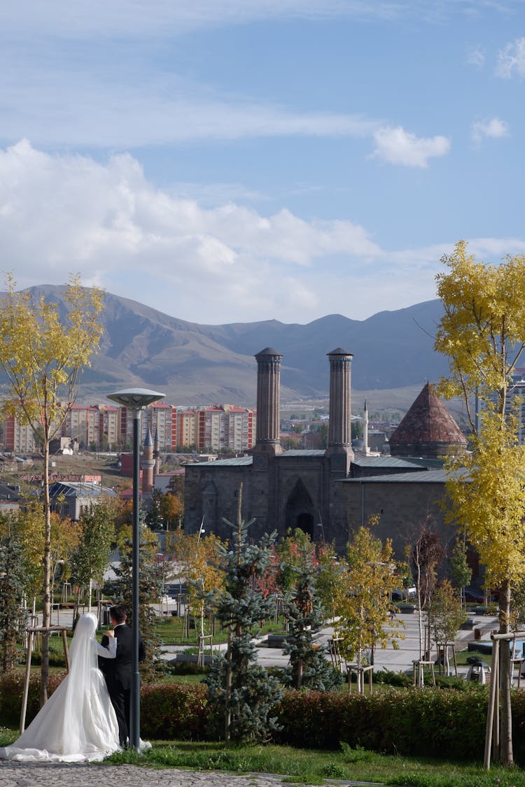
[(447, 137), (416, 137), (401, 126), (380, 128), (375, 131), (374, 139), (372, 157), (407, 167), (427, 167), (429, 158), (445, 156), (450, 150)]

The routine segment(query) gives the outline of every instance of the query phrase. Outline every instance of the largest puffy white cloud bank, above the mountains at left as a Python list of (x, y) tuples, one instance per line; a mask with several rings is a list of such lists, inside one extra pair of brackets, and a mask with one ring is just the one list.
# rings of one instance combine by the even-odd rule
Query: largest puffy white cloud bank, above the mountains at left
[[(27, 140), (0, 152), (0, 246), (19, 286), (79, 272), (186, 319), (198, 310), (201, 321), (231, 302), (251, 319), (264, 301), (268, 314), (274, 291), (288, 305), (298, 293), (318, 305), (321, 260), (381, 254), (350, 221), (305, 221), (284, 209), (264, 216), (234, 202), (205, 209), (153, 187), (128, 154), (98, 164)], [(303, 269), (316, 270), (314, 280), (290, 290)], [(266, 287), (272, 279), (275, 290)]]

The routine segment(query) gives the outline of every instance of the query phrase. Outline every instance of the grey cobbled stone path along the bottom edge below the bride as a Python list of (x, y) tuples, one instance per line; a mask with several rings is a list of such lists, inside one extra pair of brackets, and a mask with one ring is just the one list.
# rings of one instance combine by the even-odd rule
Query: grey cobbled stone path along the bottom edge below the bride
[[(364, 785), (364, 781), (331, 781), (338, 787)], [(137, 765), (61, 765), (60, 763), (11, 763), (0, 760), (1, 787), (283, 787), (283, 778), (272, 774), (238, 776), (211, 770), (146, 768)], [(303, 785), (308, 787), (308, 785)]]

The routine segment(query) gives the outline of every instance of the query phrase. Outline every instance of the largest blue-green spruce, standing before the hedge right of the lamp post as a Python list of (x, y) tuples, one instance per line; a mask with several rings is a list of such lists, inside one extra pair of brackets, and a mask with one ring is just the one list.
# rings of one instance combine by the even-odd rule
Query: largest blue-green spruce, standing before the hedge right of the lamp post
[(261, 620), (272, 615), (274, 602), (256, 587), (270, 559), (275, 533), (265, 534), (259, 544), (250, 544), (248, 530), (253, 523), (241, 520), (242, 490), (239, 490), (238, 524), (231, 527), (231, 546), (220, 546), (226, 579), (224, 589), (209, 593), (207, 603), (228, 630), (227, 655), (217, 656), (205, 682), (210, 710), (218, 720), (226, 740), (264, 741), (276, 728), (272, 711), (282, 696), (277, 678), (256, 663), (253, 635)]

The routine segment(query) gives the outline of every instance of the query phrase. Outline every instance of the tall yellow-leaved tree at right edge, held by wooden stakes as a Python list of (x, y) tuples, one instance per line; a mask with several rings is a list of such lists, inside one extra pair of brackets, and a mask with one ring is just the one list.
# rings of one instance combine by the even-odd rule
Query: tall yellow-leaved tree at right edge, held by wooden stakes
[[(525, 256), (485, 264), (460, 241), (442, 263), (449, 270), (437, 277), (444, 315), (434, 348), (449, 357), (449, 376), (438, 390), (463, 397), (472, 430), (471, 453), (448, 462), (448, 519), (478, 550), (486, 584), (501, 589), (500, 633), (507, 634), (512, 589), (525, 575), (525, 447), (508, 402), (525, 346)], [(501, 685), (500, 759), (512, 765), (509, 648), (501, 648), (501, 674), (508, 679)]]

